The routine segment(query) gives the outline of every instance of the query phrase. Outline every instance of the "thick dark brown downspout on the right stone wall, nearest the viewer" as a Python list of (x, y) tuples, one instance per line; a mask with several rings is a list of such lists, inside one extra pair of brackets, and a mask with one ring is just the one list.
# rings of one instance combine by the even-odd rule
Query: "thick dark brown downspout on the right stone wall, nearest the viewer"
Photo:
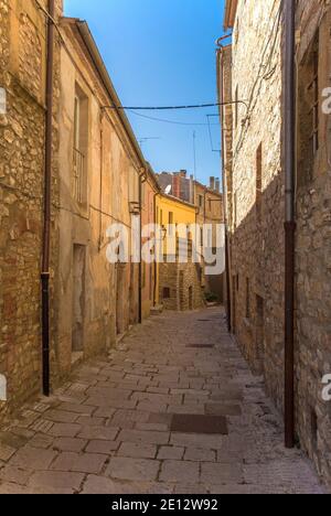
[(285, 445), (295, 447), (296, 0), (285, 17)]

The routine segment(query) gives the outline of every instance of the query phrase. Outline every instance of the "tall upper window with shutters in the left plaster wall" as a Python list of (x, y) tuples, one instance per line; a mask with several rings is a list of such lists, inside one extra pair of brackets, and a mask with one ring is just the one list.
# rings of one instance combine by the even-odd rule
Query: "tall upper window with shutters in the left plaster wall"
[(88, 110), (87, 97), (76, 86), (74, 99), (73, 197), (84, 204), (87, 197)]

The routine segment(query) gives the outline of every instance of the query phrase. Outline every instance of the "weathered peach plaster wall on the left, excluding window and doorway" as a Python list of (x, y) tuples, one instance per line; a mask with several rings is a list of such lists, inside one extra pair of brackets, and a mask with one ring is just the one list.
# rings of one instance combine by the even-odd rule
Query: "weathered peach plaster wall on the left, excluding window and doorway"
[[(81, 351), (89, 356), (114, 344), (116, 335), (138, 321), (138, 265), (110, 265), (106, 257), (110, 224), (122, 223), (131, 229), (130, 202), (139, 201), (139, 166), (128, 151), (116, 115), (102, 109), (109, 105), (102, 82), (90, 65), (84, 43), (70, 22), (65, 28), (66, 47), (62, 49), (61, 97), (61, 246), (58, 358), (62, 370), (70, 370), (75, 313), (68, 308), (76, 297), (74, 248), (84, 246), (84, 318)], [(88, 112), (85, 159), (86, 198), (73, 196), (74, 99), (84, 96)], [(75, 283), (76, 281), (76, 283)]]

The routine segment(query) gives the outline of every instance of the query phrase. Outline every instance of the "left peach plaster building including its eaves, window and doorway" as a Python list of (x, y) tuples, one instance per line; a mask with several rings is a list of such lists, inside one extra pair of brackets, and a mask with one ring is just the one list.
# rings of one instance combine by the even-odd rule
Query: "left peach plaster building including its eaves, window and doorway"
[(131, 248), (110, 264), (107, 232), (122, 224), (131, 241), (147, 164), (125, 114), (108, 108), (120, 101), (87, 24), (64, 18), (61, 30), (57, 355), (67, 373), (140, 319), (139, 264)]

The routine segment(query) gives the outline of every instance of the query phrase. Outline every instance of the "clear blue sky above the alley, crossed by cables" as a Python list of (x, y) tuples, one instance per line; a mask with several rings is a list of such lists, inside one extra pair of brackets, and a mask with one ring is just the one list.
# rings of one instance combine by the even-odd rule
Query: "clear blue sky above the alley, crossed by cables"
[[(215, 41), (223, 33), (224, 0), (65, 0), (65, 14), (88, 22), (110, 77), (129, 106), (173, 106), (217, 101)], [(207, 123), (217, 108), (153, 111), (142, 115), (184, 123)], [(147, 120), (128, 112), (145, 157), (156, 172), (194, 172), (206, 182), (220, 175), (207, 126)], [(217, 118), (211, 118), (212, 142), (220, 149)]]

